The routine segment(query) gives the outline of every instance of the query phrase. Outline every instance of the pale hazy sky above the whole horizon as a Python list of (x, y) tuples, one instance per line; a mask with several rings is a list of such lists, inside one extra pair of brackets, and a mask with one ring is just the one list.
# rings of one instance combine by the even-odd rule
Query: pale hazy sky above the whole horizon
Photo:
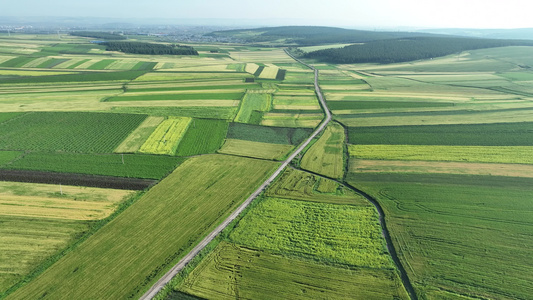
[(366, 28), (533, 27), (531, 0), (0, 0), (0, 8), (0, 16), (255, 19), (258, 24)]

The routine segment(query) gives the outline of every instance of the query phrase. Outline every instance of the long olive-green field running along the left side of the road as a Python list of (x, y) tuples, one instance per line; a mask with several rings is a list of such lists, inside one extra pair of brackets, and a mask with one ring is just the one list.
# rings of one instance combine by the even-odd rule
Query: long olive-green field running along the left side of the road
[(276, 165), (221, 155), (191, 158), (10, 298), (137, 298)]

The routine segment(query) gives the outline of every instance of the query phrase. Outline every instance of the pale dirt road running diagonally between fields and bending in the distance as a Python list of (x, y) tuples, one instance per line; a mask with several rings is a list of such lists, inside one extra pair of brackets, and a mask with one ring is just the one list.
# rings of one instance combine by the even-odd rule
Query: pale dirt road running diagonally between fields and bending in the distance
[(329, 111), (326, 101), (324, 101), (324, 97), (322, 95), (322, 91), (320, 90), (320, 86), (318, 85), (318, 70), (314, 67), (300, 61), (299, 59), (292, 56), (287, 50), (285, 50), (285, 53), (292, 57), (297, 62), (307, 66), (308, 68), (312, 69), (315, 72), (315, 92), (318, 96), (318, 99), (320, 101), (320, 104), (322, 105), (322, 108), (324, 109), (324, 112), (326, 113), (326, 117), (324, 120), (322, 120), (322, 123), (318, 126), (318, 128), (311, 134), (311, 136), (305, 140), (304, 143), (300, 145), (286, 160), (283, 161), (281, 166), (270, 176), (263, 184), (252, 194), (246, 201), (244, 201), (222, 224), (218, 225), (215, 230), (213, 230), (211, 233), (209, 233), (196, 247), (194, 247), (191, 252), (189, 252), (185, 257), (183, 257), (170, 271), (168, 271), (161, 279), (159, 279), (144, 295), (141, 296), (141, 300), (148, 300), (152, 299), (163, 289), (163, 287), (174, 277), (176, 276), (200, 251), (202, 251), (207, 244), (209, 244), (217, 235), (222, 232), (239, 214), (242, 213), (242, 211), (252, 203), (252, 201), (270, 184), (274, 179), (276, 179), (279, 174), (289, 165), (289, 163), (298, 155), (300, 154), (309, 143), (311, 143), (311, 140), (313, 140), (318, 134), (320, 134), (324, 128), (328, 125), (328, 123), (331, 121), (331, 112)]

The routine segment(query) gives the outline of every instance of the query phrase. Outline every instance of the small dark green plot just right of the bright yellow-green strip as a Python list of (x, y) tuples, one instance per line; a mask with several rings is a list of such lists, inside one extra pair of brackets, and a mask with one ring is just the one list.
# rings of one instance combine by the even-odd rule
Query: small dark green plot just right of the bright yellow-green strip
[(183, 136), (176, 155), (192, 156), (215, 153), (226, 138), (228, 122), (223, 120), (193, 119)]

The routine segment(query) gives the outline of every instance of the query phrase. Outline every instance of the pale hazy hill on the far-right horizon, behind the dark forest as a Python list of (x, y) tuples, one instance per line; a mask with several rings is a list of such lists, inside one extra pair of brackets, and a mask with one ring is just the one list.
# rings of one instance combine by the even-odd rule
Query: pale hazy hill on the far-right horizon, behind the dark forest
[(426, 29), (419, 32), (447, 34), (455, 36), (467, 36), (490, 39), (520, 39), (533, 40), (533, 28), (517, 28), (517, 29)]

